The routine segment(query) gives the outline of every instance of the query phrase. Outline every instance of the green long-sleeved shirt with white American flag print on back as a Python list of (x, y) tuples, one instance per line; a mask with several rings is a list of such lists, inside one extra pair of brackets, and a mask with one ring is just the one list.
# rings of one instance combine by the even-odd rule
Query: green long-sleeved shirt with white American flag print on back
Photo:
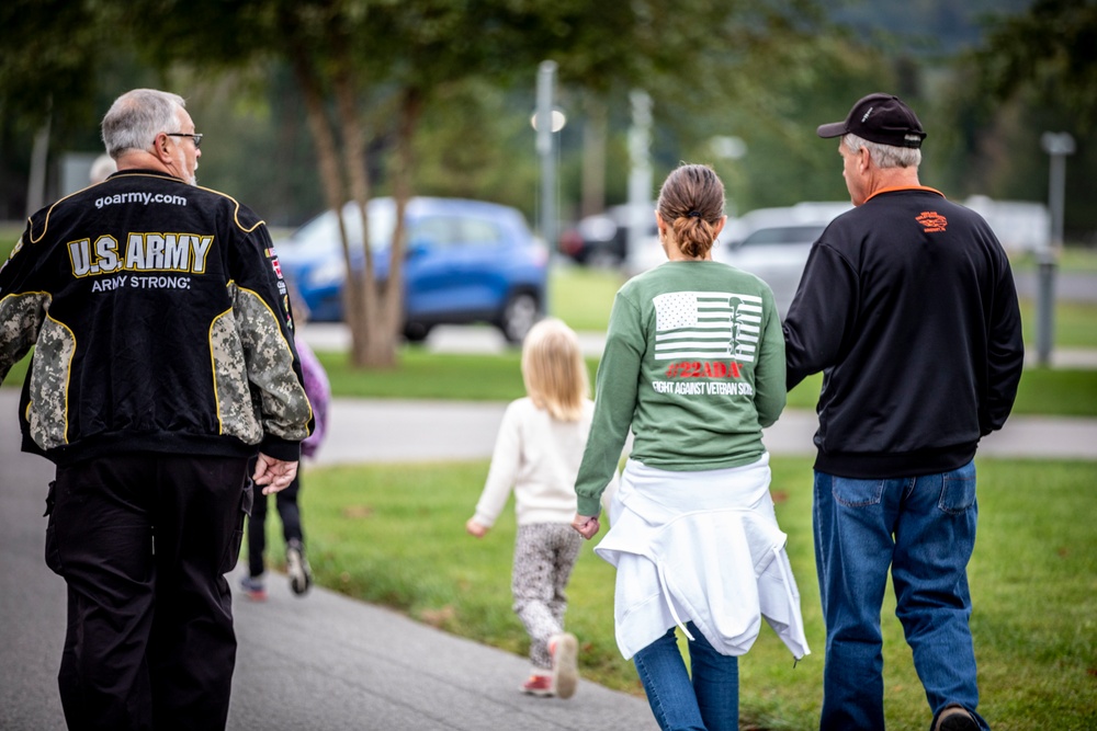
[(784, 336), (769, 286), (712, 261), (674, 261), (621, 287), (598, 366), (575, 491), (599, 499), (633, 432), (632, 459), (670, 471), (739, 467), (784, 409)]

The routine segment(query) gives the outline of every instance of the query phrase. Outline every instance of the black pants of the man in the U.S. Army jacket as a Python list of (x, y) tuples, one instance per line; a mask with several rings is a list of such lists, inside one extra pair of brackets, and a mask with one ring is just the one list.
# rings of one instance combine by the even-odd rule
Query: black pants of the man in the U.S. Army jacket
[(69, 729), (224, 729), (236, 635), (225, 572), (247, 459), (129, 454), (57, 468), (46, 563), (68, 585)]

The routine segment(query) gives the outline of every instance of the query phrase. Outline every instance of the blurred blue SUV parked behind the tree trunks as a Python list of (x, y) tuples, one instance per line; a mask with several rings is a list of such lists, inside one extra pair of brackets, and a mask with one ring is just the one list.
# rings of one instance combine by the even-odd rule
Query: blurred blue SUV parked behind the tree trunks
[[(369, 205), (370, 245), (376, 278), (388, 275), (396, 220), (393, 198)], [(508, 206), (462, 198), (416, 197), (406, 209), (404, 334), (421, 341), (436, 324), (489, 322), (521, 342), (545, 304), (548, 255), (522, 214)], [(365, 267), (362, 217), (343, 207), (351, 263)], [(317, 321), (343, 319), (347, 278), (339, 221), (333, 210), (312, 219), (275, 243), (282, 272)]]

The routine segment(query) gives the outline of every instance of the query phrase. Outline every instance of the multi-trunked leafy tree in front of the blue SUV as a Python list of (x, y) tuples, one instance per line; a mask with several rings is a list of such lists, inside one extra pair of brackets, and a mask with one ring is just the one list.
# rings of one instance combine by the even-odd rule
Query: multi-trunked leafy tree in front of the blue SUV
[[(417, 183), (430, 180), (416, 173), (417, 153), (438, 145), (419, 135), (423, 125), (455, 111), (467, 111), (470, 118), (493, 106), (502, 112), (508, 92), (498, 90), (519, 81), (532, 85), (542, 59), (557, 60), (562, 87), (593, 100), (596, 110), (602, 100), (620, 99), (641, 87), (656, 99), (658, 113), (671, 128), (677, 125), (676, 134), (708, 135), (705, 121), (713, 118), (714, 110), (734, 107), (740, 118), (765, 124), (761, 121), (779, 104), (773, 69), (795, 75), (810, 66), (810, 41), (821, 20), (813, 0), (778, 0), (764, 7), (747, 0), (634, 0), (617, 5), (588, 0), (14, 2), (32, 10), (55, 4), (76, 13), (64, 25), (87, 21), (87, 32), (73, 28), (71, 34), (81, 60), (93, 55), (90, 45), (110, 28), (112, 38), (132, 37), (163, 75), (183, 69), (193, 80), (231, 71), (255, 79), (263, 69), (287, 69), (305, 110), (325, 207), (341, 210), (353, 201), (363, 217), (378, 178), (393, 192), (398, 210)], [(81, 45), (84, 37), (88, 45)], [(58, 68), (75, 76), (86, 70), (66, 60), (61, 44), (54, 43), (57, 48), (43, 52), (47, 59), (56, 54)], [(4, 64), (5, 71), (12, 70), (0, 76), (0, 89), (4, 80), (11, 83), (19, 76), (15, 61), (5, 57)], [(59, 76), (45, 87), (63, 89)], [(87, 80), (72, 83), (93, 87)], [(618, 113), (622, 110), (620, 105)], [(520, 138), (524, 121), (521, 130), (517, 121), (523, 116), (516, 117), (516, 126), (497, 128), (508, 138)], [(437, 132), (442, 125), (430, 128)], [(434, 180), (449, 181), (438, 187), (468, 195), (482, 190), (455, 185), (456, 170), (478, 171), (478, 180), (466, 181), (507, 190), (512, 181), (498, 173), (507, 168), (505, 160), (497, 152), (484, 156), (495, 162), (493, 175), (486, 164), (477, 164), (476, 152), (475, 144), (454, 144), (436, 155), (432, 159), (441, 170)], [(668, 167), (677, 161), (674, 156), (666, 155)], [(531, 172), (527, 168), (524, 174)], [(350, 266), (352, 252), (343, 232), (349, 272), (344, 310), (353, 334), (352, 358), (360, 365), (395, 362), (404, 255), (403, 216), (396, 220), (391, 273), (384, 283), (373, 276), (367, 244), (365, 271)]]

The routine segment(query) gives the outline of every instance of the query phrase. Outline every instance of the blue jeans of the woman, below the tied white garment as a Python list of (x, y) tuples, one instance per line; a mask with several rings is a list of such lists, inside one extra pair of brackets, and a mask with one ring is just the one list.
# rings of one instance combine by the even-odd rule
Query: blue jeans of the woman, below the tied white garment
[(737, 731), (739, 728), (739, 660), (716, 652), (693, 623), (689, 643), (690, 674), (671, 627), (636, 653), (633, 662), (663, 731)]

